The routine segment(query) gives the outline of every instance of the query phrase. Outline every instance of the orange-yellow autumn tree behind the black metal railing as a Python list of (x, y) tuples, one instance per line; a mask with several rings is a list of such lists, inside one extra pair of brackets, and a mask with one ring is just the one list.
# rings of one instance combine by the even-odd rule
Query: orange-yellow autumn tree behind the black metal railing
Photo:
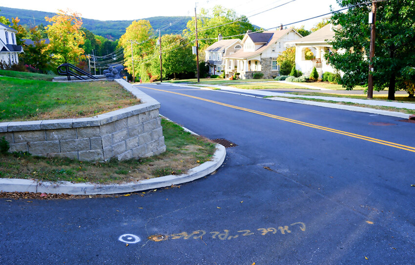
[(56, 16), (45, 17), (45, 20), (52, 22), (46, 26), (46, 32), (50, 43), (43, 49), (43, 53), (53, 55), (58, 63), (76, 63), (82, 58), (84, 33), (81, 31), (82, 19), (76, 12), (58, 10)]

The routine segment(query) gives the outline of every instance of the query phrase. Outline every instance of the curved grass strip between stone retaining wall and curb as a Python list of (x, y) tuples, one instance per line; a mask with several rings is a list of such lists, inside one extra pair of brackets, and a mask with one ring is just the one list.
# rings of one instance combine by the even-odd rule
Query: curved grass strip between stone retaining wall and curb
[(150, 158), (107, 163), (41, 158), (24, 153), (0, 154), (0, 178), (70, 181), (75, 183), (123, 183), (181, 174), (209, 161), (215, 144), (162, 120), (166, 152)]

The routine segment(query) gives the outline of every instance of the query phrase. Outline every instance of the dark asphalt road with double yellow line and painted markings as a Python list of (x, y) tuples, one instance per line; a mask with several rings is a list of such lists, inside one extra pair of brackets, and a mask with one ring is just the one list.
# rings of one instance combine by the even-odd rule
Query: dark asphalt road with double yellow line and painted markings
[(415, 264), (414, 123), (141, 87), (169, 119), (238, 146), (215, 174), (180, 188), (0, 199), (0, 264)]

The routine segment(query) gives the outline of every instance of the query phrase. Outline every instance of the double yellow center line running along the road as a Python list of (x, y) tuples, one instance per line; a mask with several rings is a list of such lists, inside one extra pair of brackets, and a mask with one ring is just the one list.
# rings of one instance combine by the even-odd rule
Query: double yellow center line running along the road
[(195, 96), (190, 96), (190, 95), (177, 93), (177, 92), (173, 92), (173, 91), (166, 91), (166, 90), (162, 90), (162, 89), (156, 89), (156, 88), (145, 87), (145, 86), (140, 86), (140, 87), (148, 88), (148, 89), (152, 89), (152, 90), (157, 90), (157, 91), (161, 91), (161, 92), (166, 92), (166, 93), (171, 93), (171, 94), (176, 94), (176, 95), (180, 95), (180, 96), (184, 96), (184, 97), (188, 97), (188, 98), (192, 98), (192, 99), (196, 99), (196, 100), (206, 101), (206, 102), (226, 106), (226, 107), (229, 107), (229, 108), (239, 109), (239, 110), (255, 113), (255, 114), (258, 114), (258, 115), (270, 117), (270, 118), (281, 120), (281, 121), (284, 121), (284, 122), (291, 122), (291, 123), (295, 123), (295, 124), (299, 124), (299, 125), (303, 125), (303, 126), (323, 130), (323, 131), (342, 134), (342, 135), (345, 135), (345, 136), (349, 136), (349, 137), (369, 141), (369, 142), (372, 142), (372, 143), (379, 143), (379, 144), (383, 144), (383, 145), (387, 145), (387, 146), (391, 146), (391, 147), (394, 147), (394, 148), (398, 148), (398, 149), (402, 149), (402, 150), (406, 150), (406, 151), (410, 151), (410, 152), (415, 153), (415, 147), (408, 146), (408, 145), (383, 141), (383, 140), (380, 140), (380, 139), (367, 137), (367, 136), (360, 135), (360, 134), (354, 134), (354, 133), (350, 133), (350, 132), (340, 131), (340, 130), (332, 129), (332, 128), (329, 128), (329, 127), (315, 125), (315, 124), (312, 124), (312, 123), (300, 122), (300, 121), (297, 121), (297, 120), (292, 120), (292, 119), (289, 119), (289, 118), (284, 118), (284, 117), (281, 117), (281, 116), (277, 116), (277, 115), (273, 115), (273, 114), (269, 114), (269, 113), (249, 109), (249, 108), (238, 107), (238, 106), (234, 106), (234, 105), (230, 105), (230, 104), (226, 104), (226, 103), (222, 103), (222, 102), (212, 101), (212, 100), (199, 98), (199, 97), (195, 97)]

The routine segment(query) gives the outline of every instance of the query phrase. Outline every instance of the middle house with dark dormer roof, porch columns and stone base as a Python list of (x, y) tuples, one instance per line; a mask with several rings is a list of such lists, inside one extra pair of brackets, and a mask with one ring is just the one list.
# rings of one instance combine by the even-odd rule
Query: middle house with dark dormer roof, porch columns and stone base
[(274, 78), (279, 74), (277, 57), (286, 49), (286, 42), (302, 38), (294, 29), (280, 29), (275, 31), (251, 32), (242, 39), (242, 49), (225, 59), (225, 76), (240, 73), (241, 79), (251, 79), (254, 73), (261, 72), (263, 78)]

